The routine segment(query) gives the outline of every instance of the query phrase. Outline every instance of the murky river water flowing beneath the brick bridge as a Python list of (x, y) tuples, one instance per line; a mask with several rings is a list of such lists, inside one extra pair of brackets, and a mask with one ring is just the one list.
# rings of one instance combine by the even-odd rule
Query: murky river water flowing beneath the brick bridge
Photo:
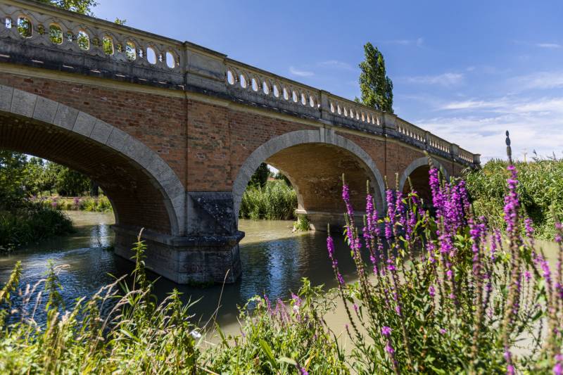
[[(20, 286), (35, 284), (44, 277), (49, 261), (55, 265), (67, 265), (59, 277), (65, 306), (70, 307), (76, 298), (90, 296), (132, 271), (129, 260), (105, 250), (113, 241), (113, 214), (99, 212), (68, 211), (77, 229), (75, 234), (27, 246), (10, 255), (0, 256), (0, 285), (4, 284), (20, 260), (23, 274)], [(185, 301), (199, 300), (192, 308), (195, 319), (202, 322), (217, 309), (217, 322), (231, 326), (236, 322), (237, 305), (243, 305), (254, 295), (267, 294), (272, 300), (286, 299), (291, 291), (301, 286), (307, 277), (313, 285), (336, 286), (331, 262), (327, 256), (326, 233), (291, 233), (293, 222), (281, 220), (240, 220), (239, 229), (246, 232), (241, 241), (241, 265), (243, 273), (235, 284), (200, 288), (179, 286), (160, 278), (156, 281), (156, 295), (161, 300), (177, 288)], [(353, 277), (353, 262), (343, 239), (336, 239), (336, 256), (344, 277)], [(149, 273), (149, 277), (157, 278)], [(221, 298), (220, 298), (221, 296)], [(18, 297), (15, 296), (15, 305)], [(39, 310), (38, 310), (39, 311)], [(42, 317), (36, 317), (42, 321)]]

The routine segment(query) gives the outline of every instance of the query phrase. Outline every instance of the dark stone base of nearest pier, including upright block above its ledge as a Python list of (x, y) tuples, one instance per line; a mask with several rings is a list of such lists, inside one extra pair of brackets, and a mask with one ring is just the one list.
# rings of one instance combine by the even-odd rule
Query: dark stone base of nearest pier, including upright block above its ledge
[[(145, 264), (148, 269), (177, 284), (234, 283), (241, 275), (239, 242), (232, 194), (188, 193), (187, 236), (160, 234), (145, 229)], [(134, 256), (139, 229), (116, 224), (115, 253)]]

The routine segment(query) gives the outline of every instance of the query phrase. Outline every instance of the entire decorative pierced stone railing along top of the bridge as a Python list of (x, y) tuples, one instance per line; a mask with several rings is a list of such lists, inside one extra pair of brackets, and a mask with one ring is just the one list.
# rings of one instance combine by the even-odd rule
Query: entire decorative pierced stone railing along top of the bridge
[(63, 11), (32, 0), (0, 0), (0, 61), (169, 89), (196, 91), (398, 138), (459, 163), (479, 155), (327, 91), (227, 58), (189, 42)]

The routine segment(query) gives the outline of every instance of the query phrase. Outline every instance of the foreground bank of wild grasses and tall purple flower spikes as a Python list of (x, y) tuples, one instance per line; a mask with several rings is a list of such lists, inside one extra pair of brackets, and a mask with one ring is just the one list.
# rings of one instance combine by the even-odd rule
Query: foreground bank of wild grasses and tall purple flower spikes
[[(161, 303), (151, 297), (145, 246), (139, 241), (132, 286), (121, 284), (118, 296), (116, 281), (68, 312), (51, 267), (42, 281), (46, 326), (38, 328), (33, 315), (22, 313), (18, 322), (2, 327), (0, 371), (561, 374), (563, 248), (550, 267), (521, 209), (516, 169), (510, 165), (507, 172), (504, 239), (490, 235), (484, 218), (474, 215), (464, 182), (440, 182), (435, 168), (429, 178), (435, 215), (422, 209), (416, 191), (403, 196), (388, 190), (386, 217), (378, 220), (368, 195), (365, 224), (359, 227), (344, 184), (346, 241), (358, 281), (344, 282), (331, 236), (327, 250), (338, 281), (333, 293), (348, 314), (343, 334), (352, 350), (343, 348), (323, 319), (334, 309), (331, 293), (308, 281), (286, 303), (266, 295), (254, 298), (253, 312), (241, 310), (240, 335), (216, 329), (220, 343), (205, 344), (205, 329), (190, 322), (189, 306), (182, 305), (177, 291)], [(555, 231), (561, 244), (562, 224), (556, 222)], [(369, 259), (362, 258), (362, 246)], [(20, 272), (17, 266), (0, 291), (4, 306)], [(33, 292), (37, 288), (28, 289), (24, 301), (42, 298)], [(102, 316), (110, 300), (115, 305)], [(12, 313), (0, 310), (4, 316)], [(526, 337), (530, 340), (522, 341)]]

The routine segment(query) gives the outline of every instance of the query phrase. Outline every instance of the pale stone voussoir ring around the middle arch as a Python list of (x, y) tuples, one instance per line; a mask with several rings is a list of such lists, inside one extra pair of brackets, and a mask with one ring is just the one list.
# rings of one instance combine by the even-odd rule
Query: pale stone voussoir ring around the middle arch
[(270, 156), (278, 153), (284, 148), (299, 144), (329, 144), (338, 146), (362, 160), (369, 170), (369, 174), (371, 174), (371, 183), (374, 185), (375, 191), (377, 192), (374, 196), (377, 211), (384, 212), (384, 179), (381, 177), (381, 173), (377, 169), (377, 165), (375, 165), (372, 158), (360, 146), (355, 144), (353, 141), (350, 141), (350, 139), (339, 136), (338, 134), (335, 134), (334, 131), (322, 128), (319, 130), (298, 130), (296, 132), (282, 134), (281, 136), (272, 138), (270, 141), (262, 144), (260, 147), (256, 148), (250, 156), (248, 156), (243, 165), (241, 165), (239, 173), (236, 175), (236, 179), (233, 184), (234, 214), (237, 220), (239, 217), (242, 196), (246, 190), (246, 185), (250, 181), (254, 171), (260, 166), (260, 163), (263, 163), (264, 160), (270, 158)]

